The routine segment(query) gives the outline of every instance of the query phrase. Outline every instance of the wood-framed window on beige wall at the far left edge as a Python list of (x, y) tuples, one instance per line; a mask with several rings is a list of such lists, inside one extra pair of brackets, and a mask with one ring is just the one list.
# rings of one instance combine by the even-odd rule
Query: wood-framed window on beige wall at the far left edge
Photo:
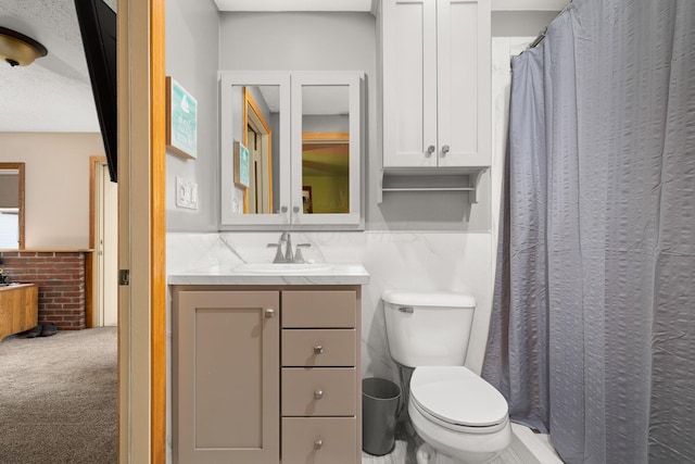
[(24, 249), (24, 163), (0, 163), (0, 250)]

